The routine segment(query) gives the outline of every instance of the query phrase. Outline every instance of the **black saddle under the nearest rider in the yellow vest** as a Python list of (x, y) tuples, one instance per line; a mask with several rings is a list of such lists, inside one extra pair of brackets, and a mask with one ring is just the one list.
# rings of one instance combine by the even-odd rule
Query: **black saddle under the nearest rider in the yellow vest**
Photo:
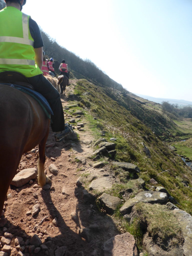
[(28, 79), (21, 73), (15, 71), (4, 71), (0, 73), (0, 83), (16, 84), (34, 90)]

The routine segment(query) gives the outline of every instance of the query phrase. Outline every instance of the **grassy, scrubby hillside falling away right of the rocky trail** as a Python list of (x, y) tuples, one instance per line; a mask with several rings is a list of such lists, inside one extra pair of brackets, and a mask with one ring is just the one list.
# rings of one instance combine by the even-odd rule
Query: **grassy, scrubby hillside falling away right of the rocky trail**
[[(154, 178), (178, 201), (179, 208), (192, 214), (192, 190), (189, 188), (192, 188), (191, 169), (162, 141), (165, 137), (179, 140), (191, 136), (189, 129), (185, 132), (176, 123), (184, 120), (171, 120), (166, 113), (162, 113), (157, 103), (129, 92), (102, 88), (86, 79), (78, 81), (75, 94), (79, 106), (86, 111), (87, 118), (90, 117), (90, 127), (96, 138), (100, 137), (99, 131), (102, 130), (106, 131), (106, 139), (118, 137), (115, 159), (136, 164), (141, 170), (140, 177), (148, 184), (148, 188), (150, 179)], [(93, 117), (97, 120), (93, 120)], [(151, 158), (146, 157), (140, 142), (149, 148)], [(189, 187), (180, 183), (177, 176), (187, 180)], [(126, 177), (121, 177), (121, 181), (126, 186)]]

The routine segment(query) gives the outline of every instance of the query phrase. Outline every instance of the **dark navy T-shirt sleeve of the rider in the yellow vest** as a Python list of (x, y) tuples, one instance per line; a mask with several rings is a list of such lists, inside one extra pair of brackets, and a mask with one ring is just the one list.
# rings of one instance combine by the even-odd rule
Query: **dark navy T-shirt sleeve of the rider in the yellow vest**
[(41, 37), (41, 32), (39, 29), (39, 26), (37, 25), (37, 23), (35, 22), (35, 20), (29, 18), (29, 30), (31, 33), (31, 36), (34, 39), (34, 48), (40, 48), (43, 47), (43, 39)]

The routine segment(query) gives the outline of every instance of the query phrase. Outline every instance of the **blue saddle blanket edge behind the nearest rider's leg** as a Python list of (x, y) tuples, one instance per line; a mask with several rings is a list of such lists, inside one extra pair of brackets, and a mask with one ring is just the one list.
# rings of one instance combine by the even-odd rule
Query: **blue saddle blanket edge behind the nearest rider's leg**
[(17, 84), (9, 84), (9, 86), (14, 87), (22, 92), (25, 92), (25, 93), (29, 94), (31, 97), (33, 97), (41, 105), (47, 118), (51, 119), (50, 114), (53, 115), (53, 111), (52, 111), (48, 101), (39, 92), (36, 92), (34, 90), (31, 90), (29, 88), (26, 88), (26, 87), (23, 87), (23, 86), (20, 86)]

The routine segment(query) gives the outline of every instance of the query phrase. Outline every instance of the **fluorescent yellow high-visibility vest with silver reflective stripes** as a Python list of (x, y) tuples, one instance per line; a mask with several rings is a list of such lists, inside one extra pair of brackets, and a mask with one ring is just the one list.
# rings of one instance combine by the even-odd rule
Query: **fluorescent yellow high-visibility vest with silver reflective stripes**
[(29, 17), (12, 6), (0, 11), (0, 72), (16, 71), (26, 77), (42, 74), (35, 63)]

